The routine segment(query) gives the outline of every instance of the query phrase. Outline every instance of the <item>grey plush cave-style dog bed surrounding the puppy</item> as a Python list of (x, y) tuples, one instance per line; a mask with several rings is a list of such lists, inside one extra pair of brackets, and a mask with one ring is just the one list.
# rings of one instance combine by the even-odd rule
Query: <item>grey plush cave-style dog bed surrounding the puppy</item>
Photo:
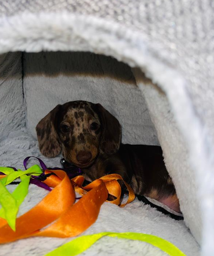
[[(105, 202), (84, 234), (141, 232), (212, 255), (212, 26), (209, 1), (1, 0), (0, 165), (22, 168), (33, 155), (58, 167), (61, 156), (39, 153), (36, 124), (58, 103), (99, 102), (121, 122), (122, 142), (161, 145), (184, 221), (138, 199), (124, 209)], [(30, 185), (19, 215), (46, 194)], [(0, 255), (44, 255), (72, 239), (28, 238)], [(166, 255), (110, 237), (83, 254)]]

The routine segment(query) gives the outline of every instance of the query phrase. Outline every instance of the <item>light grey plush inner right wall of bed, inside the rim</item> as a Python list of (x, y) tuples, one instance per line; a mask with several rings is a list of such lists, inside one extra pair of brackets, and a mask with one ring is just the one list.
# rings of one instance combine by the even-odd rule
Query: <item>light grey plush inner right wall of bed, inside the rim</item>
[[(178, 198), (180, 198), (181, 211), (187, 226), (190, 227), (198, 241), (201, 240), (201, 216), (198, 211), (198, 183), (189, 164), (189, 152), (185, 140), (177, 128), (175, 117), (170, 109), (166, 94), (158, 86), (145, 78), (144, 74), (133, 69), (136, 83), (144, 93), (150, 116), (157, 129), (160, 144), (164, 153), (167, 170), (172, 176)], [(176, 147), (175, 147), (176, 145)], [(190, 182), (191, 181), (191, 182)], [(195, 225), (198, 223), (198, 225)]]

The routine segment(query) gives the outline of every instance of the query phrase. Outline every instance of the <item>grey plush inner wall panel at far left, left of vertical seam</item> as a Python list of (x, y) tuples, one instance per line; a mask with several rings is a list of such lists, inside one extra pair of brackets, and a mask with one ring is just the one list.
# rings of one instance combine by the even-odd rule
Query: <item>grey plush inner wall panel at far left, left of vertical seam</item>
[(24, 127), (21, 53), (0, 55), (0, 142)]

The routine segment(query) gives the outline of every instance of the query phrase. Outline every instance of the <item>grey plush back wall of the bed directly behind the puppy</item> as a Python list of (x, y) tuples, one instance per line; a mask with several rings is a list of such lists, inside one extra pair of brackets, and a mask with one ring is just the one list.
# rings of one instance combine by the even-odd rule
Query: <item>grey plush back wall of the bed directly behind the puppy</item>
[[(24, 54), (28, 131), (58, 104), (72, 100), (101, 103), (122, 126), (122, 142), (159, 145), (142, 92), (126, 64), (82, 52)], [(140, 108), (139, 108), (140, 106)]]

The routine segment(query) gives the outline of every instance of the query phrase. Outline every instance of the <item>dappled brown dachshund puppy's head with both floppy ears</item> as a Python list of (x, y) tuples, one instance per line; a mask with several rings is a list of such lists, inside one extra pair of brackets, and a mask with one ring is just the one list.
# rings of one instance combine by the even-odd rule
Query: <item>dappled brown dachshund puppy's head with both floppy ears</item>
[(99, 152), (116, 153), (121, 125), (100, 104), (84, 101), (56, 106), (36, 126), (39, 149), (44, 156), (61, 153), (65, 160), (85, 168)]

